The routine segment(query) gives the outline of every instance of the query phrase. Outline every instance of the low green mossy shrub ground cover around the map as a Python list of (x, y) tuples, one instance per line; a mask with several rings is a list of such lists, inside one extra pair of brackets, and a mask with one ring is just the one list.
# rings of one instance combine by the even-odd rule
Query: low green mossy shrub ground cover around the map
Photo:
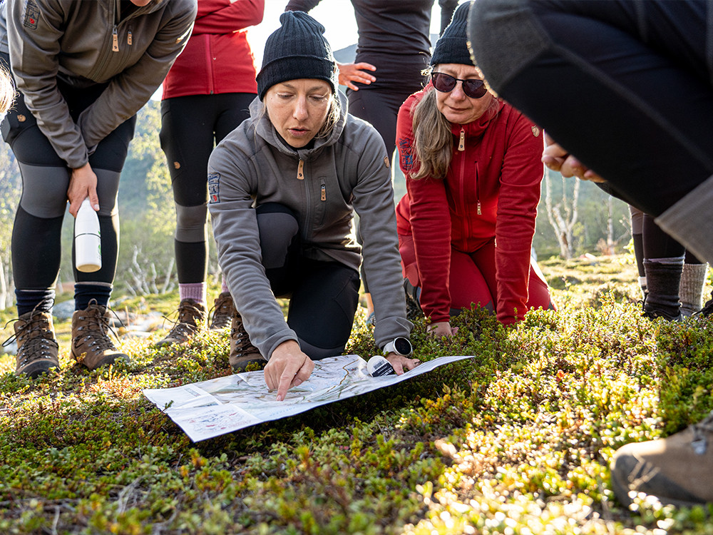
[[(97, 372), (64, 341), (34, 382), (0, 356), (0, 534), (713, 533), (704, 508), (623, 508), (608, 472), (713, 409), (713, 320), (640, 317), (624, 257), (543, 271), (556, 312), (466, 311), (447, 341), (416, 322), (421, 360), (472, 360), (198, 444), (140, 391), (230, 373), (225, 333)], [(347, 351), (375, 350), (360, 310)]]

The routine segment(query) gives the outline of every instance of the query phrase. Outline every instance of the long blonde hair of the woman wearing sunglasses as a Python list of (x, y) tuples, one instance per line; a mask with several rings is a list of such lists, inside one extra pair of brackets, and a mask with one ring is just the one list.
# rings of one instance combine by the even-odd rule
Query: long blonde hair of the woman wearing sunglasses
[(414, 158), (419, 163), (410, 178), (446, 178), (453, 156), (451, 123), (436, 106), (436, 89), (426, 91), (413, 116)]

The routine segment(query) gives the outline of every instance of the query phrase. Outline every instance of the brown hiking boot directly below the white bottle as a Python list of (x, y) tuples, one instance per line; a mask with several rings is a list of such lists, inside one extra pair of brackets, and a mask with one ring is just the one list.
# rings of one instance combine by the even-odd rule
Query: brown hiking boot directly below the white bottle
[(72, 315), (72, 357), (87, 367), (96, 370), (117, 359), (128, 360), (114, 347), (108, 336), (109, 310), (97, 305), (95, 300), (86, 310), (77, 310)]

